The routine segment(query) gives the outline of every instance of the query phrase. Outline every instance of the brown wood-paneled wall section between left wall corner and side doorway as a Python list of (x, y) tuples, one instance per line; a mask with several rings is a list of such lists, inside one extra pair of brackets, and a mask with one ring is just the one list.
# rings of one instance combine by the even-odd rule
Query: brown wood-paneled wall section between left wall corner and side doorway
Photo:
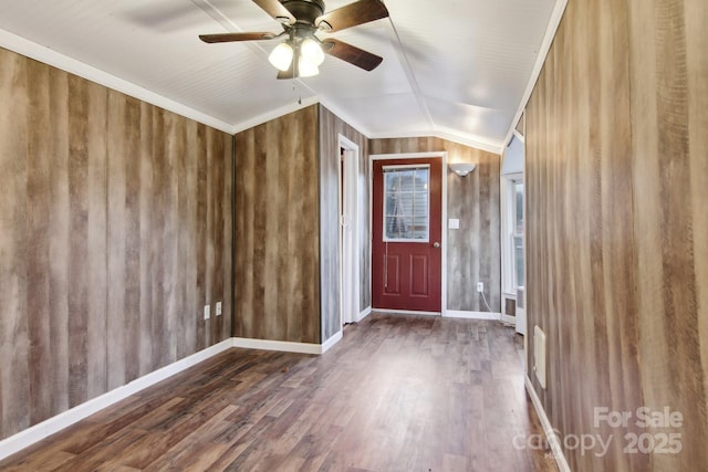
[(237, 337), (321, 343), (317, 115), (236, 135)]

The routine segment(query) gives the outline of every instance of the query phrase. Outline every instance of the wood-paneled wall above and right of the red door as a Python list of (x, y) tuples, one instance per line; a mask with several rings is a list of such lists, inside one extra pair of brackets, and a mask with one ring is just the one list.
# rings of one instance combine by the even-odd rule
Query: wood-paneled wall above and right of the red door
[[(448, 231), (447, 307), (487, 312), (476, 290), (485, 283), (491, 308), (501, 312), (500, 157), (440, 138), (372, 139), (371, 154), (447, 151), (449, 162), (473, 162), (466, 177), (447, 169), (448, 218), (460, 220), (459, 230)], [(445, 228), (447, 224), (445, 224)]]

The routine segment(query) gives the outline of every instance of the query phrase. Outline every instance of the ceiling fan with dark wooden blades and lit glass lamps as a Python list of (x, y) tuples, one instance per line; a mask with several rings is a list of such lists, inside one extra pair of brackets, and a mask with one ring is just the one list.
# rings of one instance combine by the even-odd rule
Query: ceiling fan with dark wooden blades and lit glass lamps
[(353, 3), (324, 12), (322, 0), (253, 0), (268, 14), (280, 21), (283, 32), (202, 34), (206, 43), (232, 41), (263, 41), (284, 36), (269, 56), (280, 72), (278, 78), (308, 77), (316, 75), (324, 53), (346, 61), (365, 71), (373, 71), (383, 57), (332, 38), (320, 40), (316, 32), (336, 32), (369, 21), (388, 17), (381, 0), (357, 0)]

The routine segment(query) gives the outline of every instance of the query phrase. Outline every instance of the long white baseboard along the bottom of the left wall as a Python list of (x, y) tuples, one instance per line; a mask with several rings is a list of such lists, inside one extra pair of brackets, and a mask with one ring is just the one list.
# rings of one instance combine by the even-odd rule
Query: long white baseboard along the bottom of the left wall
[(104, 408), (107, 408), (127, 397), (137, 394), (138, 391), (150, 387), (168, 377), (179, 374), (189, 367), (192, 367), (219, 353), (228, 350), (232, 347), (231, 338), (222, 340), (211, 347), (208, 347), (184, 359), (177, 360), (168, 366), (159, 368), (154, 373), (147, 374), (140, 378), (133, 380), (129, 384), (103, 394), (100, 397), (93, 398), (84, 403), (81, 403), (70, 410), (56, 415), (41, 423), (34, 424), (23, 431), (18, 432), (7, 439), (0, 441), (0, 460), (9, 455), (19, 452), (20, 450), (28, 448), (42, 439), (52, 436), (70, 426), (96, 413)]

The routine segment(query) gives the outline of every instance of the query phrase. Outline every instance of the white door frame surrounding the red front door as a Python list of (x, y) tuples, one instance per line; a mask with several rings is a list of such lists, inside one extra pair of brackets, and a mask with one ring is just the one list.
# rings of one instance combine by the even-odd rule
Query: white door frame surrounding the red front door
[[(440, 244), (442, 245), (442, 251), (440, 254), (440, 315), (445, 316), (447, 313), (447, 151), (434, 151), (434, 153), (406, 153), (406, 154), (372, 154), (368, 156), (368, 228), (371, 229), (371, 244), (373, 248), (374, 243), (374, 160), (394, 160), (394, 159), (430, 159), (439, 157), (440, 164), (442, 165), (442, 201), (440, 209), (440, 219), (441, 221), (441, 234), (440, 234)], [(374, 270), (373, 264), (373, 251), (369, 252), (369, 266), (372, 271)], [(369, 280), (373, 281), (373, 274), (368, 274)], [(372, 291), (374, 290), (372, 284)], [(399, 311), (396, 311), (400, 313)], [(414, 314), (426, 314), (425, 312), (408, 312)], [(433, 313), (429, 313), (433, 314)], [(437, 313), (435, 313), (437, 315)]]

